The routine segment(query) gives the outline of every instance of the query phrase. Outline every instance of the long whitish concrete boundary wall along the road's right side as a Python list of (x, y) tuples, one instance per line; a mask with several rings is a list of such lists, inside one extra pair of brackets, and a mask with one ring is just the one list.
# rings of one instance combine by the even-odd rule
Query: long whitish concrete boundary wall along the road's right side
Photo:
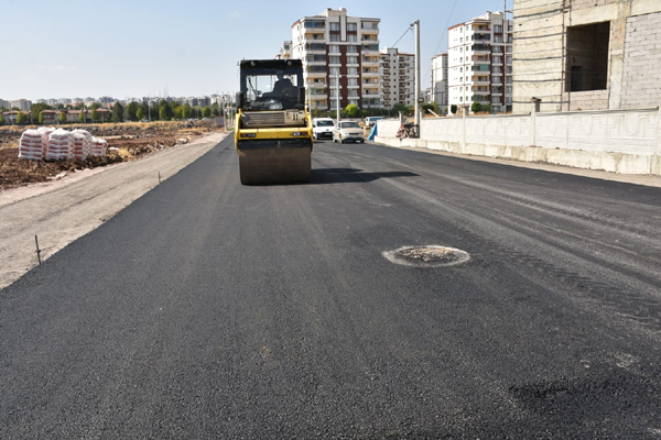
[(376, 142), (621, 174), (661, 175), (661, 111), (573, 111), (425, 118), (420, 139), (380, 120)]

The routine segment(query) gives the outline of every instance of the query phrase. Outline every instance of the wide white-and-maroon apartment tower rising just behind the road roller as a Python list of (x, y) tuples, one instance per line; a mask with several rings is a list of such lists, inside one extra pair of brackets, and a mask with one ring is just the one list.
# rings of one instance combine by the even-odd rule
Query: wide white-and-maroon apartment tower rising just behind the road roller
[(292, 24), (291, 57), (303, 62), (311, 109), (335, 110), (338, 91), (340, 108), (381, 107), (379, 23), (328, 8)]

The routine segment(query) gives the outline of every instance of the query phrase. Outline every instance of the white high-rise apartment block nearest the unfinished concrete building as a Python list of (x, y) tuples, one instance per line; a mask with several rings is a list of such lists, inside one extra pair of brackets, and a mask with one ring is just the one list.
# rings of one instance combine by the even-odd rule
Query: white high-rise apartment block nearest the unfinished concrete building
[(448, 105), (512, 109), (512, 23), (488, 11), (447, 30)]

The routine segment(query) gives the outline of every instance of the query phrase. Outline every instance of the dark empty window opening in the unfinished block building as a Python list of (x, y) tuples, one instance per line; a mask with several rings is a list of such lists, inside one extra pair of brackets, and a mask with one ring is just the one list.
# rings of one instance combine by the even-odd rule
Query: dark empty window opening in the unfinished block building
[(567, 28), (570, 77), (565, 91), (605, 90), (608, 86), (610, 22)]

